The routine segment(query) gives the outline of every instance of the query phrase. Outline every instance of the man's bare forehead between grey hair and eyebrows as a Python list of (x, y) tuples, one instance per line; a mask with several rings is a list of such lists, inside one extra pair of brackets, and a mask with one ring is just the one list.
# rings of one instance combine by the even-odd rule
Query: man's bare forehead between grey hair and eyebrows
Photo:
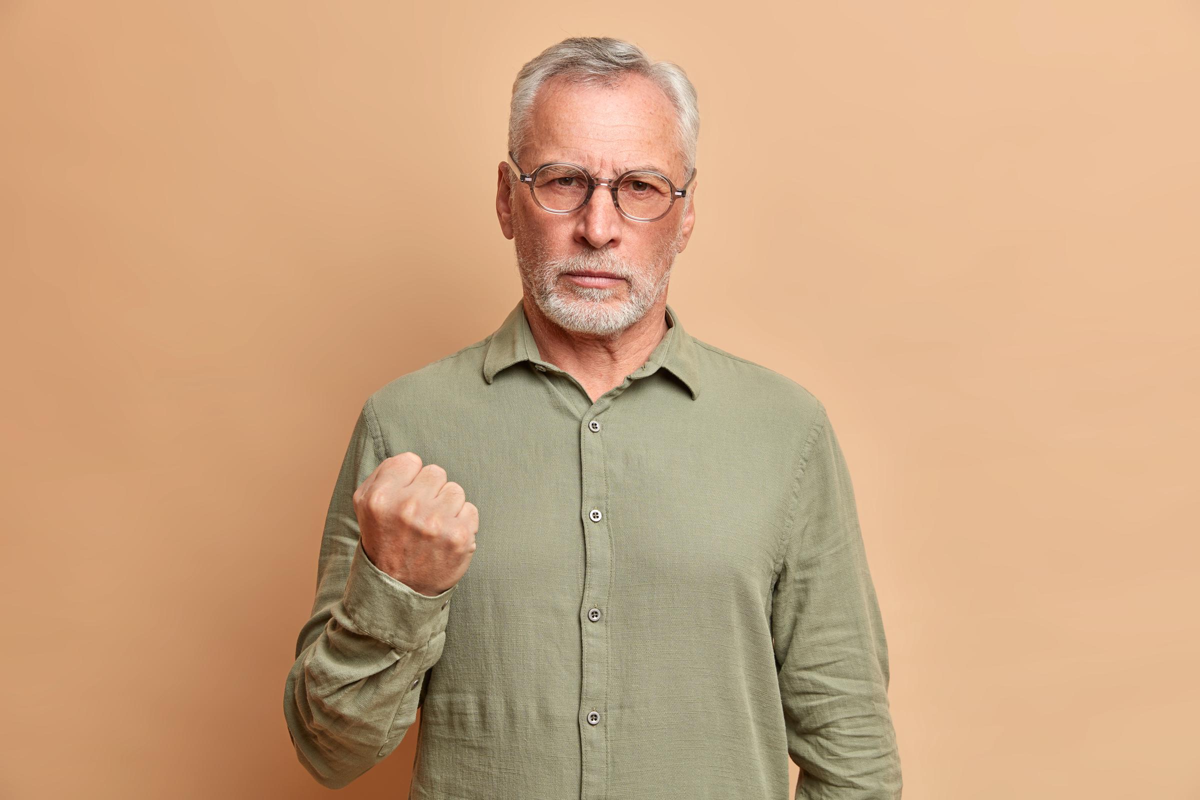
[(642, 76), (611, 86), (551, 78), (534, 98), (522, 167), (570, 161), (594, 174), (652, 167), (682, 182), (676, 125), (670, 98)]

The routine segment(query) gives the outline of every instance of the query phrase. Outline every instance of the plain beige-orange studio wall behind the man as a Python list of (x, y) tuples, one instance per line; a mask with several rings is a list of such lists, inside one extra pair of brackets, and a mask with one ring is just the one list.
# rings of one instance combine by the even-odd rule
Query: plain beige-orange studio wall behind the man
[(1157, 0), (0, 4), (0, 796), (326, 792), (282, 693), (329, 492), (518, 297), (509, 90), (569, 35), (698, 88), (670, 300), (829, 408), (905, 798), (1200, 798), (1200, 11)]

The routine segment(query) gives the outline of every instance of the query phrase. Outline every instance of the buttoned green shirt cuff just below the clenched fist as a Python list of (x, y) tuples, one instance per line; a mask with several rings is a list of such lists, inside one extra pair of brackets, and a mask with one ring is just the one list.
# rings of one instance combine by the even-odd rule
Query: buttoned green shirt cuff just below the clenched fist
[(445, 631), (455, 587), (440, 595), (422, 595), (372, 564), (359, 539), (342, 604), (350, 622), (362, 633), (396, 650), (409, 651)]

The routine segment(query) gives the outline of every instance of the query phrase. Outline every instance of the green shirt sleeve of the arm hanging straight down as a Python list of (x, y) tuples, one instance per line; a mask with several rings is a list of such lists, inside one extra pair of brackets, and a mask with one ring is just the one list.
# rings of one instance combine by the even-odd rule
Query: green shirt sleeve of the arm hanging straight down
[(898, 800), (888, 650), (853, 487), (824, 405), (802, 456), (772, 633), (797, 800)]

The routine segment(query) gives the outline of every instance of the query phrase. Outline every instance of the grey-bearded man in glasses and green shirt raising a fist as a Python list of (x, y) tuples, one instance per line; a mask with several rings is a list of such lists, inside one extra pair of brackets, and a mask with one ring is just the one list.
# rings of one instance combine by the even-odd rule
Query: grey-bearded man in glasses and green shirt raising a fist
[(517, 76), (522, 299), (362, 405), (287, 678), (343, 787), (421, 711), (414, 800), (900, 796), (887, 642), (823, 404), (666, 303), (696, 94), (569, 38)]

